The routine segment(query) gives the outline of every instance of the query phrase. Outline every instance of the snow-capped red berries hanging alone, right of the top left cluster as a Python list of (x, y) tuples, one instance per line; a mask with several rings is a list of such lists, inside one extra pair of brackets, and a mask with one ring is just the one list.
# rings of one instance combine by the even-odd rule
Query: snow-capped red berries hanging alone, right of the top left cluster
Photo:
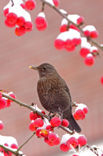
[(47, 28), (47, 21), (44, 12), (40, 12), (38, 14), (35, 19), (35, 25), (39, 31), (45, 30)]

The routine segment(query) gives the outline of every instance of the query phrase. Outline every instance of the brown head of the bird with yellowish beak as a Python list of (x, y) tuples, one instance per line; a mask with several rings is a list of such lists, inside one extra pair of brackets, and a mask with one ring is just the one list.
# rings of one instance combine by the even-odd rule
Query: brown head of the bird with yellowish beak
[(38, 73), (39, 73), (40, 78), (44, 77), (44, 76), (52, 75), (54, 73), (57, 73), (56, 69), (54, 68), (54, 66), (52, 66), (49, 63), (43, 63), (43, 64), (41, 64), (39, 66), (31, 65), (31, 66), (29, 66), (29, 68), (37, 70)]

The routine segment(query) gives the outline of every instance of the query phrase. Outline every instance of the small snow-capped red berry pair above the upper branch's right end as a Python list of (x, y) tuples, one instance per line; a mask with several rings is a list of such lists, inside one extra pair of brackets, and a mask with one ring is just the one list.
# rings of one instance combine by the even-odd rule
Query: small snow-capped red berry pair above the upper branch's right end
[(84, 35), (86, 37), (97, 38), (98, 32), (93, 25), (87, 25), (83, 28)]

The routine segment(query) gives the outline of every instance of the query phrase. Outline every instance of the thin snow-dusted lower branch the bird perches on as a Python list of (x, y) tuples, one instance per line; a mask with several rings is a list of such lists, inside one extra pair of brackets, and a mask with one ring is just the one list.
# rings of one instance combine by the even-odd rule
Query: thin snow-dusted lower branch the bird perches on
[[(45, 114), (43, 114), (43, 113), (37, 111), (33, 106), (27, 105), (27, 104), (25, 104), (25, 103), (23, 103), (23, 102), (21, 102), (21, 101), (19, 101), (19, 100), (16, 100), (16, 99), (10, 97), (9, 95), (7, 95), (6, 93), (2, 93), (2, 96), (3, 96), (3, 97), (6, 97), (7, 99), (10, 99), (10, 100), (14, 101), (15, 103), (17, 103), (17, 104), (20, 105), (20, 106), (23, 106), (23, 107), (26, 107), (26, 108), (30, 109), (30, 110), (33, 111), (34, 113), (39, 114), (42, 118), (47, 118), (47, 119), (49, 120), (49, 117), (48, 117), (47, 115), (45, 115)], [(62, 130), (64, 130), (65, 132), (69, 133), (69, 134), (73, 134), (73, 133), (74, 133), (73, 131), (69, 130), (69, 129), (66, 128), (66, 127), (63, 127), (63, 126), (59, 126), (59, 127), (60, 127)]]

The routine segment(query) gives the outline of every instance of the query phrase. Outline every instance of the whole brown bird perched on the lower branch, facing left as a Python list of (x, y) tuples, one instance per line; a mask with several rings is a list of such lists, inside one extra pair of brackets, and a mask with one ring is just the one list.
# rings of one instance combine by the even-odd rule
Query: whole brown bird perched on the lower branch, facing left
[(31, 65), (29, 68), (37, 70), (39, 74), (37, 93), (41, 105), (49, 113), (57, 113), (61, 118), (67, 119), (71, 131), (81, 132), (72, 114), (73, 102), (69, 88), (55, 67), (49, 63), (42, 63), (39, 66)]

